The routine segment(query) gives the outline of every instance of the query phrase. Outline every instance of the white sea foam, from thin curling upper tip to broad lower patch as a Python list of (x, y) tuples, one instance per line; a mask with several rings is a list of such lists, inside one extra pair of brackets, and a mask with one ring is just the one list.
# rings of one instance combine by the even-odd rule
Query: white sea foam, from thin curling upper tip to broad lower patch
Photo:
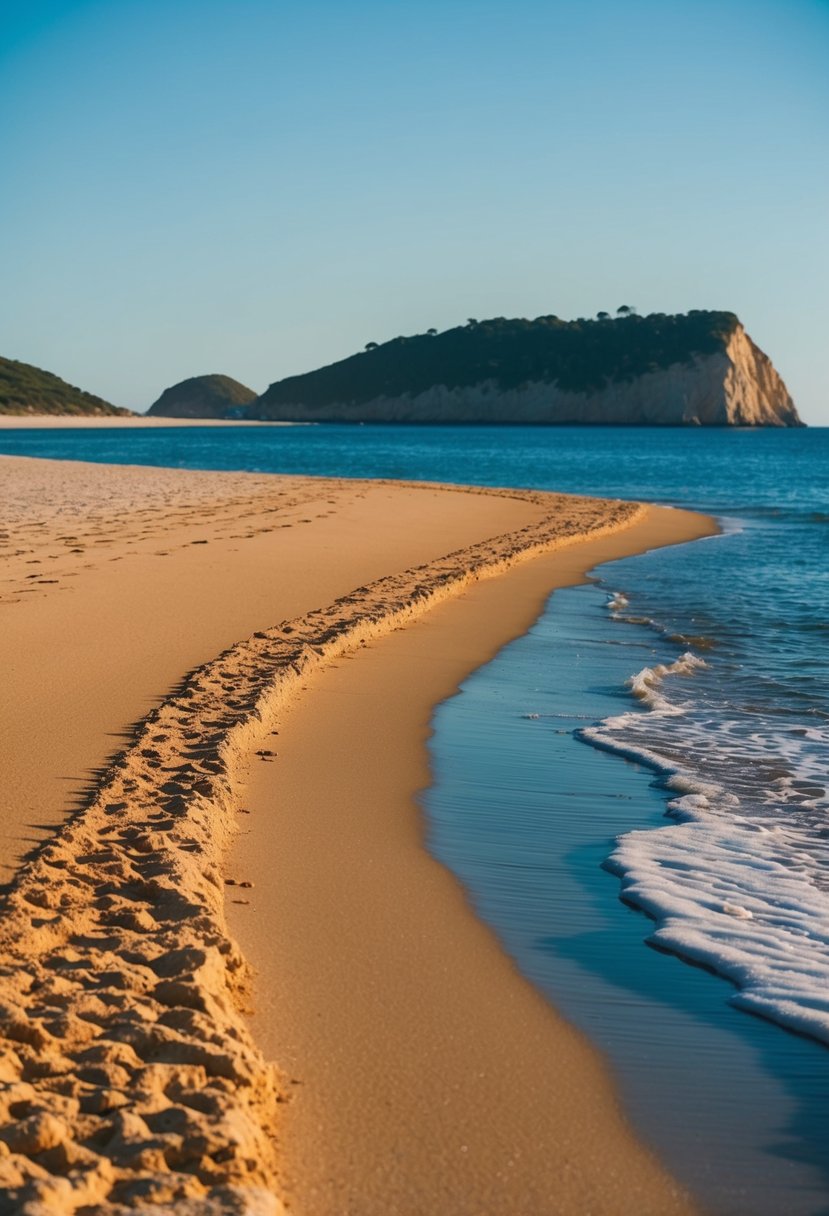
[[(619, 714), (579, 732), (648, 765), (676, 795), (667, 803), (671, 826), (620, 837), (605, 865), (619, 876), (622, 897), (656, 922), (650, 942), (729, 979), (739, 1008), (829, 1043), (829, 841), (782, 816), (795, 798), (799, 809), (812, 805), (803, 794), (808, 765), (780, 772), (806, 759), (796, 747), (784, 756), (786, 749), (769, 745), (762, 732), (738, 734), (734, 724), (682, 716), (686, 708), (667, 699), (664, 682), (704, 666), (687, 652), (643, 669), (628, 685), (648, 713)], [(733, 789), (692, 767), (706, 756), (716, 769), (718, 758), (733, 759), (735, 745), (755, 765), (771, 753), (780, 772), (766, 811), (752, 805), (746, 814)]]

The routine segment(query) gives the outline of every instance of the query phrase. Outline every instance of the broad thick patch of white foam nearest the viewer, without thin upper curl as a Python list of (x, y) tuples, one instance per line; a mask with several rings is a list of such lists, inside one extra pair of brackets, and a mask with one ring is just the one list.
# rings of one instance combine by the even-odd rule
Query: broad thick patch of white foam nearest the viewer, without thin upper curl
[(793, 868), (788, 833), (704, 820), (631, 832), (608, 868), (656, 922), (649, 941), (712, 968), (731, 1001), (829, 1043), (829, 897), (816, 861)]

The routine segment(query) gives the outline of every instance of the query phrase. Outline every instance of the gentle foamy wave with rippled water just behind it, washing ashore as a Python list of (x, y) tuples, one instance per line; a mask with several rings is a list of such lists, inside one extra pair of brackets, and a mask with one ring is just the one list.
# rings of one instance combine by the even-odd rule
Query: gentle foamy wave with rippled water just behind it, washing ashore
[[(608, 598), (614, 619), (627, 607), (622, 592)], [(686, 651), (628, 679), (636, 708), (576, 731), (672, 795), (675, 822), (620, 837), (605, 868), (656, 922), (652, 945), (729, 979), (734, 1006), (829, 1043), (829, 731), (791, 726), (779, 705), (772, 719), (768, 688), (727, 716), (728, 682), (724, 665)]]

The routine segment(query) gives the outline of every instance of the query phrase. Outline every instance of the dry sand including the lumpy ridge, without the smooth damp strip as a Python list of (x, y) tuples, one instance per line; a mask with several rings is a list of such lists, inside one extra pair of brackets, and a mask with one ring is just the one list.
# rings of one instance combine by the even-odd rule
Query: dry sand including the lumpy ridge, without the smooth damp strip
[[(4, 908), (0, 1211), (277, 1212), (275, 1136), (291, 1087), (250, 1036), (249, 968), (224, 910), (226, 889), (244, 899), (249, 882), (222, 865), (247, 809), (241, 773), (253, 756), (276, 760), (269, 732), (335, 657), (645, 508), (39, 461), (0, 461), (0, 474), (13, 527), (2, 658), (21, 751), (16, 698), (26, 710), (34, 685), (41, 711), (28, 724), (36, 745), (4, 792), (6, 863), (30, 824), (11, 804), (34, 810), (43, 798), (36, 822), (66, 821), (64, 776), (44, 777), (36, 756), (40, 769), (56, 753), (75, 775), (100, 770)], [(44, 569), (30, 578), (28, 563)], [(377, 576), (389, 567), (402, 573)], [(298, 587), (283, 585), (286, 572), (301, 572)], [(91, 644), (73, 658), (84, 624)], [(49, 691), (61, 683), (63, 646), (69, 700), (52, 704), (39, 681), (51, 666)], [(151, 689), (159, 703), (142, 713)], [(69, 706), (86, 704), (92, 725), (68, 724)], [(50, 733), (63, 724), (71, 755)], [(107, 759), (112, 732), (126, 727)]]

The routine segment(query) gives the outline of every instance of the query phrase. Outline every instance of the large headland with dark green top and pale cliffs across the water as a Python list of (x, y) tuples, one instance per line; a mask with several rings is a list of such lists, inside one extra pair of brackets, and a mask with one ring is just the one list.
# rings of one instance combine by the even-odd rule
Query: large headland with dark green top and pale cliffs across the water
[[(248, 416), (298, 422), (801, 426), (785, 384), (733, 314), (586, 322), (498, 319), (472, 327), (473, 333), (464, 327), (467, 333), (395, 339), (278, 382)], [(451, 345), (445, 343), (441, 351), (441, 339), (450, 337)]]

